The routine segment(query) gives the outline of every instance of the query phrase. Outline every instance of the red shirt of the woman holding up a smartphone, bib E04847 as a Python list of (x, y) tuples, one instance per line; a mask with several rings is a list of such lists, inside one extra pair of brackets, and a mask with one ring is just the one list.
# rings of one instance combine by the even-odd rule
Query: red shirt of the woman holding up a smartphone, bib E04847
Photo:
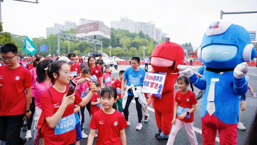
[[(66, 86), (66, 91), (61, 93), (54, 89), (52, 86), (48, 88), (52, 98), (48, 91), (45, 91), (41, 96), (41, 107), (42, 113), (45, 118), (53, 116), (54, 113), (59, 109), (63, 95), (68, 92), (68, 86)], [(66, 117), (74, 113), (74, 105), (79, 104), (82, 101), (80, 96), (75, 91), (75, 101), (74, 103), (67, 106), (61, 118)], [(76, 122), (75, 122), (76, 123)], [(76, 141), (76, 129), (63, 133), (63, 134), (54, 134), (54, 129), (51, 129), (47, 122), (45, 122), (44, 130), (44, 142), (45, 144), (71, 144)]]

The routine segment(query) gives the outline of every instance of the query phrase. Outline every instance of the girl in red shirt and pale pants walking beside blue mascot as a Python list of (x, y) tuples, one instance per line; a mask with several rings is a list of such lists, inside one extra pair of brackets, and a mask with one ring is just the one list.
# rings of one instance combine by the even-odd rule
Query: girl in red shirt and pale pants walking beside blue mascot
[[(167, 145), (172, 145), (174, 143), (176, 134), (182, 126), (186, 129), (190, 143), (192, 145), (197, 145), (198, 143), (193, 130), (194, 111), (196, 110), (197, 104), (195, 94), (193, 93), (193, 84), (186, 76), (180, 76), (177, 83), (179, 91), (177, 91), (175, 95), (174, 117), (171, 122), (173, 126)], [(187, 89), (189, 83), (193, 92)]]

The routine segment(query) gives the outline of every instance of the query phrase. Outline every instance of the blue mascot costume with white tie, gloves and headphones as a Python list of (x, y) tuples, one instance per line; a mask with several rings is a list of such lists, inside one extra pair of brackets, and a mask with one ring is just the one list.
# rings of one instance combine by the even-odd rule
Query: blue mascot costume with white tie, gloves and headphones
[(236, 144), (240, 96), (248, 89), (245, 75), (257, 52), (245, 28), (227, 21), (212, 23), (206, 30), (198, 58), (206, 66), (202, 78), (190, 67), (178, 65), (200, 90), (203, 144), (215, 144), (217, 130), (220, 144)]

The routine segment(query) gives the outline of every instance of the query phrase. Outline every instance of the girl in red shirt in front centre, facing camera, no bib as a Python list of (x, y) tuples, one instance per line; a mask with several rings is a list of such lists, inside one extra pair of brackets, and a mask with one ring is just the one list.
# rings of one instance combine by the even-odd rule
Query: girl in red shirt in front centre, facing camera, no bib
[[(126, 145), (125, 127), (127, 122), (122, 113), (118, 112), (115, 106), (117, 91), (112, 86), (106, 86), (101, 92), (101, 104), (103, 109), (97, 111), (90, 122), (91, 128), (87, 144), (92, 145), (96, 129), (98, 137), (96, 145)], [(120, 139), (121, 138), (121, 139)]]

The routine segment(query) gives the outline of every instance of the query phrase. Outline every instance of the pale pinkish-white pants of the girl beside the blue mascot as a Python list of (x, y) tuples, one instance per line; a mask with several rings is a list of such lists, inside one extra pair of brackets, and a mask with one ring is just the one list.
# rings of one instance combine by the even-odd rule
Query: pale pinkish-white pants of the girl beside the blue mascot
[(176, 119), (175, 125), (172, 125), (172, 129), (170, 132), (170, 136), (169, 136), (167, 145), (173, 145), (173, 143), (175, 141), (175, 137), (182, 126), (184, 126), (187, 131), (187, 136), (188, 136), (190, 143), (192, 145), (197, 145), (198, 143), (196, 140), (193, 125), (194, 125), (194, 122), (186, 123), (186, 122)]

